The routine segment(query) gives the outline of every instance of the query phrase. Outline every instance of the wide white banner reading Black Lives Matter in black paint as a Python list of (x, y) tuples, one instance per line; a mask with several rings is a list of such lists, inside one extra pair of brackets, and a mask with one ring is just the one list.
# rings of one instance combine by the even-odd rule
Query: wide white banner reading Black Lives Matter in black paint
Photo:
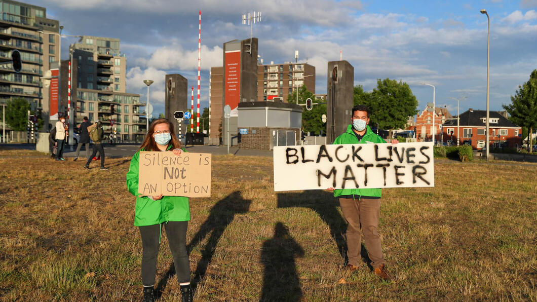
[(434, 186), (432, 142), (274, 147), (274, 191)]

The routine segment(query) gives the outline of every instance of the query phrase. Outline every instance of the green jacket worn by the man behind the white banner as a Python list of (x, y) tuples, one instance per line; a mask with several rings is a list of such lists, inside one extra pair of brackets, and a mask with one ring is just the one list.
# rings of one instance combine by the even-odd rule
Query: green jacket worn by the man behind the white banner
[[(386, 143), (379, 135), (376, 135), (369, 125), (366, 126), (366, 133), (362, 136), (362, 139), (358, 141), (358, 138), (352, 131), (352, 125), (347, 126), (347, 131), (342, 135), (339, 135), (333, 142), (334, 145), (346, 145), (352, 143)], [(381, 189), (336, 189), (334, 190), (334, 197), (342, 195), (355, 195), (357, 198), (361, 196), (369, 197), (381, 197)]]

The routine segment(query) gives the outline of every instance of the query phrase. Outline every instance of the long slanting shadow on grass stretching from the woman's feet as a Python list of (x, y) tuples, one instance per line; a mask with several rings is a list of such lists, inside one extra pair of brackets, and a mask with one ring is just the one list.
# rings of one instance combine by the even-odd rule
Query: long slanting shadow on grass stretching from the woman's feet
[[(194, 277), (191, 280), (191, 286), (195, 291), (198, 283), (205, 277), (207, 272), (207, 267), (213, 258), (216, 246), (220, 240), (226, 228), (233, 222), (235, 214), (241, 214), (248, 212), (250, 208), (251, 200), (243, 199), (240, 191), (235, 191), (228, 195), (227, 197), (221, 199), (217, 202), (209, 213), (209, 217), (204, 221), (200, 226), (198, 233), (194, 235), (192, 241), (186, 246), (188, 254), (198, 246), (206, 236), (211, 233), (207, 239), (205, 247), (201, 250), (201, 259), (196, 265), (194, 271)], [(164, 274), (161, 280), (158, 282), (156, 287), (157, 296), (160, 297), (164, 291), (166, 284), (168, 284), (168, 279), (175, 275), (175, 267), (173, 262), (170, 264), (168, 272)]]

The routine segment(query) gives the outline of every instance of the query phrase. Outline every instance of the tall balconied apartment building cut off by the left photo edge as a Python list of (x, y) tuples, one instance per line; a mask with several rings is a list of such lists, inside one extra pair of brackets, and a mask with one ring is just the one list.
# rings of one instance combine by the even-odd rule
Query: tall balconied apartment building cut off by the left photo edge
[[(59, 21), (46, 18), (41, 6), (10, 0), (0, 0), (0, 12), (0, 104), (24, 98), (48, 117), (49, 93), (39, 77), (60, 58)], [(21, 55), (20, 73), (11, 64), (14, 49)]]

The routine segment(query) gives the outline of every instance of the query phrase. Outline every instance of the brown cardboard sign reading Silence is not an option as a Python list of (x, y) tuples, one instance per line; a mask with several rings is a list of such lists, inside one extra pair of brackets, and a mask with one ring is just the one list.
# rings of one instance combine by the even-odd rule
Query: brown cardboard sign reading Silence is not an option
[(147, 196), (211, 196), (211, 154), (140, 152), (138, 193)]

